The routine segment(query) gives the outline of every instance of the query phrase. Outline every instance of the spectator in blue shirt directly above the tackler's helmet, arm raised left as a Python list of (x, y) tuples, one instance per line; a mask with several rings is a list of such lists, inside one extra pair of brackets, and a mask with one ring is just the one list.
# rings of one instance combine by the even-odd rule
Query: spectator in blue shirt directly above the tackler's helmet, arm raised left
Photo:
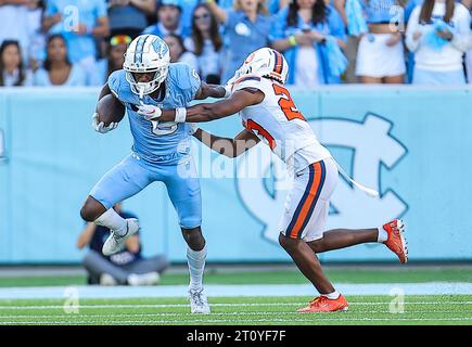
[(233, 10), (224, 10), (206, 0), (209, 11), (224, 25), (221, 81), (227, 82), (250, 53), (269, 46), (272, 18), (265, 0), (235, 0)]

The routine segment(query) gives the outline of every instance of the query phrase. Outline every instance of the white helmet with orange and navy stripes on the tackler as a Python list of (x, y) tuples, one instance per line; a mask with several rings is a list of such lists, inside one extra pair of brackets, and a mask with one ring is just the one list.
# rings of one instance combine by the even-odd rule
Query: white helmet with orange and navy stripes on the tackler
[(289, 63), (280, 52), (266, 47), (251, 53), (237, 74), (239, 76), (252, 74), (285, 83)]

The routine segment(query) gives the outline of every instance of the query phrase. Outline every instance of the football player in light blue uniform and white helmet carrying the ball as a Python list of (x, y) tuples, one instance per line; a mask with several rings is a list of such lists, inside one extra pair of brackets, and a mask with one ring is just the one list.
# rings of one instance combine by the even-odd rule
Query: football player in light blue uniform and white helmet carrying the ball
[[(113, 93), (126, 106), (135, 141), (131, 154), (93, 187), (80, 215), (87, 221), (112, 230), (102, 250), (105, 255), (114, 254), (139, 226), (136, 219), (123, 219), (112, 206), (154, 181), (164, 182), (188, 244), (191, 310), (207, 313), (209, 306), (202, 283), (206, 246), (201, 230), (200, 182), (190, 154), (192, 126), (160, 123), (153, 117), (161, 108), (179, 110), (194, 99), (224, 98), (229, 91), (201, 81), (196, 72), (186, 64), (169, 62), (167, 44), (157, 36), (142, 35), (129, 44), (123, 69), (109, 77), (99, 100)], [(105, 127), (95, 113), (92, 125), (104, 133), (118, 124)]]

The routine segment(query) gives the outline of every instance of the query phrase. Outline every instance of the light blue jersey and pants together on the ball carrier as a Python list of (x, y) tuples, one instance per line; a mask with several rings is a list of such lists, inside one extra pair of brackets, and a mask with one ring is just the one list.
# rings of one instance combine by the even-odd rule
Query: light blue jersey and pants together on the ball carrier
[[(186, 107), (195, 97), (201, 81), (188, 65), (170, 64), (164, 85), (165, 97), (162, 101), (144, 95), (142, 102), (161, 108)], [(136, 112), (140, 99), (131, 91), (123, 69), (110, 75), (109, 87), (126, 105), (135, 143), (132, 153), (110, 169), (93, 187), (90, 195), (109, 209), (152, 182), (162, 181), (176, 208), (180, 227), (200, 227), (202, 197), (190, 155), (189, 126), (145, 120), (143, 115)]]

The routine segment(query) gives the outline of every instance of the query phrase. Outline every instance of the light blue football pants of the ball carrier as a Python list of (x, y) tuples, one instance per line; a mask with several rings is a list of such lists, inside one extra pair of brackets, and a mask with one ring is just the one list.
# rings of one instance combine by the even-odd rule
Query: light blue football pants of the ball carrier
[(150, 164), (130, 154), (100, 179), (90, 195), (109, 209), (155, 181), (166, 184), (180, 227), (183, 229), (200, 227), (202, 197), (199, 177), (191, 156), (179, 164), (163, 165)]

